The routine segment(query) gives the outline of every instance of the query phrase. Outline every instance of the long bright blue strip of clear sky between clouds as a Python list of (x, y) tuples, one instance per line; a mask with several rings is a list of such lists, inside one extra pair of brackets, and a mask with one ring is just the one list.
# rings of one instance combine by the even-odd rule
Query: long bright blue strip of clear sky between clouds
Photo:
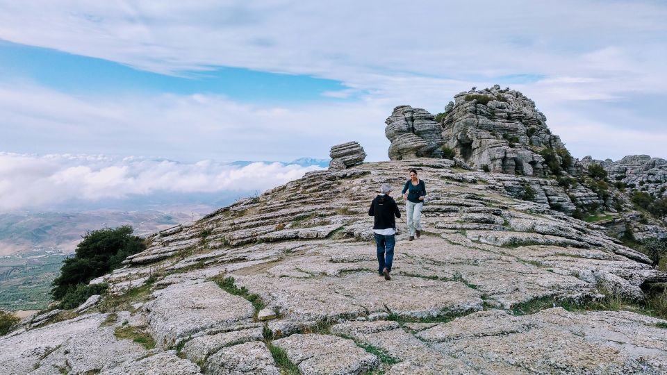
[(42, 47), (0, 41), (0, 79), (38, 85), (74, 95), (220, 94), (252, 103), (331, 100), (324, 92), (344, 90), (340, 82), (297, 74), (239, 67), (159, 74), (121, 63)]

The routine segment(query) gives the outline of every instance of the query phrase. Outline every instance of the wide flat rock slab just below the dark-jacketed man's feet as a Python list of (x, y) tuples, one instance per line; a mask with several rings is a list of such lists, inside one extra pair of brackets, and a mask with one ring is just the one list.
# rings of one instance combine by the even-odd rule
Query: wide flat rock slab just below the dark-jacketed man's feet
[(236, 283), (261, 294), (284, 317), (300, 321), (359, 317), (387, 309), (406, 317), (436, 317), (483, 306), (481, 293), (463, 283), (404, 276), (385, 281), (374, 272), (306, 279), (238, 276)]

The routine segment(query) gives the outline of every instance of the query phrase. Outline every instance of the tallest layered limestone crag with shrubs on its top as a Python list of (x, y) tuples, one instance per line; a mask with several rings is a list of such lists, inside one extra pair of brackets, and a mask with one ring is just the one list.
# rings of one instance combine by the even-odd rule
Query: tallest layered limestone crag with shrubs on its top
[[(443, 118), (445, 145), (473, 167), (493, 172), (545, 176), (548, 167), (539, 149), (564, 149), (546, 117), (521, 92), (490, 89), (461, 92)], [(576, 174), (573, 169), (570, 174)]]

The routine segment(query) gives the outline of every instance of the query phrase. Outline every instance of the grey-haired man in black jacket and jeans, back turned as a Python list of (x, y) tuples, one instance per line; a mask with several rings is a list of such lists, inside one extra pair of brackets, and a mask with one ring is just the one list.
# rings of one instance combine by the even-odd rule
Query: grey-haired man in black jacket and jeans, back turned
[(383, 183), (380, 187), (380, 194), (373, 199), (368, 210), (368, 215), (375, 218), (373, 232), (377, 245), (377, 274), (384, 276), (385, 280), (391, 280), (389, 273), (396, 244), (395, 217), (401, 217), (396, 201), (389, 196), (391, 190), (388, 183)]

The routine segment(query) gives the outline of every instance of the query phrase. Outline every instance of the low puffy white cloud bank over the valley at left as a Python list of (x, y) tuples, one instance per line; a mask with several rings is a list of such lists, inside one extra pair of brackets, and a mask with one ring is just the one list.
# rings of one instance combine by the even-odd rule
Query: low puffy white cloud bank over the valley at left
[(89, 155), (0, 153), (0, 210), (40, 208), (69, 201), (132, 195), (263, 191), (320, 167), (213, 160), (176, 163)]

